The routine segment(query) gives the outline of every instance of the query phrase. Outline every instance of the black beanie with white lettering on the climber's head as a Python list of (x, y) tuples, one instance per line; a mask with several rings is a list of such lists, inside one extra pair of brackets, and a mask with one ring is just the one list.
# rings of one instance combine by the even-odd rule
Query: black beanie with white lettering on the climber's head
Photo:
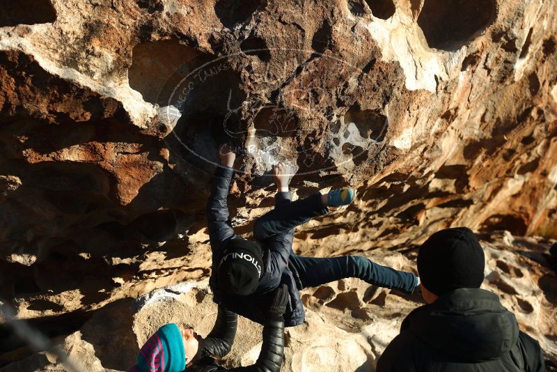
[(262, 275), (262, 249), (256, 242), (231, 239), (219, 265), (219, 288), (229, 295), (255, 292)]

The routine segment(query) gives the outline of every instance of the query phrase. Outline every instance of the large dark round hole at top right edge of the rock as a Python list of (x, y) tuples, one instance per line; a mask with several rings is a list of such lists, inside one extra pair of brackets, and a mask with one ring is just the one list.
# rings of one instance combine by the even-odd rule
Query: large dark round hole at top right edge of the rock
[(495, 15), (494, 0), (425, 0), (418, 25), (430, 47), (456, 50), (489, 26)]

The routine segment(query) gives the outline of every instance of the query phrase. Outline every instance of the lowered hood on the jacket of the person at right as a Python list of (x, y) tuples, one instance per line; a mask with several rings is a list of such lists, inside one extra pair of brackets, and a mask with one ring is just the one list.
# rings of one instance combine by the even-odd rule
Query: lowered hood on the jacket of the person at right
[(401, 328), (452, 359), (476, 363), (501, 357), (519, 336), (515, 315), (479, 288), (453, 290), (418, 307)]

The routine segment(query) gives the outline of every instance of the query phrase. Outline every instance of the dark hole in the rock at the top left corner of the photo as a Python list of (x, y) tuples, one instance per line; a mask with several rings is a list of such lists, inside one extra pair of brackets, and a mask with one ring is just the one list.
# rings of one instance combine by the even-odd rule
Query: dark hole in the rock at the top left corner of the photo
[(56, 20), (56, 10), (49, 0), (0, 0), (0, 8), (0, 27)]

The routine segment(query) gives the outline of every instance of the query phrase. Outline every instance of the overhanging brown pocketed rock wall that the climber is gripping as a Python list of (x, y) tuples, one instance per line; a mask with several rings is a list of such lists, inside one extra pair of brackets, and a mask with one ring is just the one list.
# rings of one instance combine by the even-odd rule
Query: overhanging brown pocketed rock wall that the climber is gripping
[(356, 188), (298, 229), (300, 254), (404, 252), (462, 225), (557, 238), (551, 1), (3, 5), (0, 293), (53, 338), (210, 274), (226, 140), (238, 233), (271, 208), (274, 162), (299, 197)]

